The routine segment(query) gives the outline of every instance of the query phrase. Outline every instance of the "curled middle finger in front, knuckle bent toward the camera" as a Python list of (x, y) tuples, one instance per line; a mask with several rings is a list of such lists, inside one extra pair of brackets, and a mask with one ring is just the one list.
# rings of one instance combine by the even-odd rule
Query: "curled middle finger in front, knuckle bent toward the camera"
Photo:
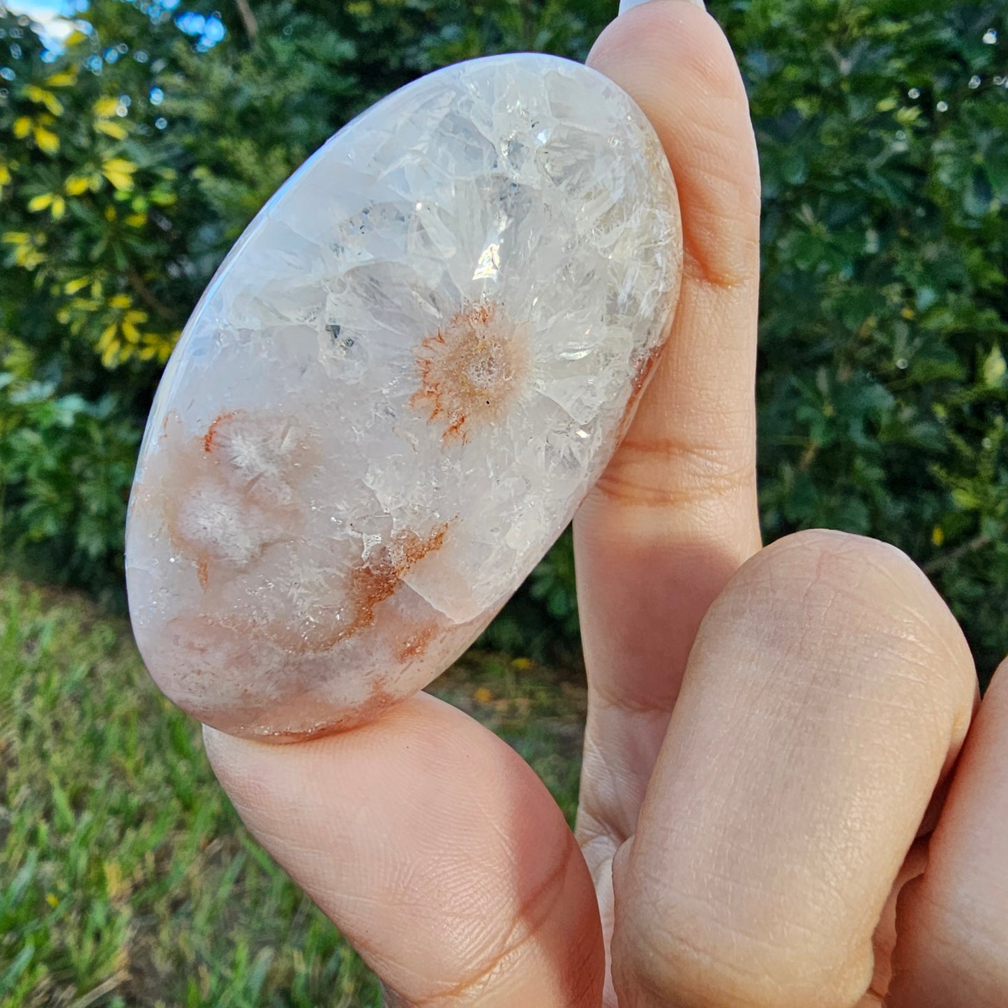
[(620, 1004), (857, 1004), (975, 691), (959, 626), (893, 547), (805, 532), (746, 563), (614, 863)]

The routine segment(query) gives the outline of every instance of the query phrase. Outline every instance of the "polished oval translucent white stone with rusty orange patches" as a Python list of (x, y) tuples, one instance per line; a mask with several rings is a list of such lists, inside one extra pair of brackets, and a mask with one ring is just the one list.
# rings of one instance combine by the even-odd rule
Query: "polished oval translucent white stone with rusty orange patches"
[(656, 135), (580, 64), (450, 67), (341, 130), (221, 266), (148, 420), (126, 562), (158, 685), (282, 741), (429, 682), (602, 472), (680, 265)]

